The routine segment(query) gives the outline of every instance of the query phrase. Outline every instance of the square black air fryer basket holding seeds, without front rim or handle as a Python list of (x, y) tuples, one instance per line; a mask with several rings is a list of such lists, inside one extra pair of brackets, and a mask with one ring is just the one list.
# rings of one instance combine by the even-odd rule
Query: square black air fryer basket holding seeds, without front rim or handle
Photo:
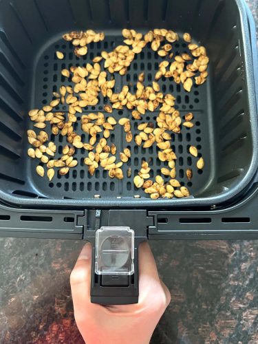
[[(0, 13), (0, 197), (6, 202), (30, 206), (175, 206), (218, 204), (232, 200), (246, 189), (257, 171), (257, 114), (252, 58), (248, 44), (248, 21), (241, 0), (1, 0)], [(147, 32), (169, 28), (182, 34), (191, 32), (193, 39), (207, 48), (210, 57), (208, 82), (184, 91), (170, 79), (159, 81), (163, 92), (173, 94), (181, 115), (192, 111), (195, 127), (173, 134), (172, 147), (180, 157), (178, 179), (193, 197), (178, 200), (150, 200), (134, 188), (133, 176), (142, 160), (149, 160), (153, 175), (160, 170), (155, 147), (142, 150), (134, 142), (125, 142), (121, 127), (111, 135), (120, 151), (129, 147), (132, 153), (131, 178), (110, 180), (107, 171), (87, 173), (83, 164), (85, 152), (77, 149), (78, 166), (52, 182), (35, 173), (36, 162), (27, 155), (26, 130), (32, 128), (28, 110), (40, 108), (52, 100), (52, 92), (67, 81), (61, 69), (82, 63), (102, 50), (111, 51), (122, 43), (122, 28)], [(69, 30), (92, 28), (105, 32), (105, 41), (89, 46), (85, 59), (79, 60), (72, 46), (61, 39)], [(184, 52), (182, 40), (174, 45)], [(56, 59), (56, 50), (65, 52), (65, 60)], [(144, 71), (145, 85), (151, 83), (158, 63), (162, 61), (145, 48), (131, 64), (126, 76), (116, 75), (116, 91), (124, 84), (136, 83)], [(69, 84), (69, 83), (68, 83)], [(87, 112), (102, 111), (103, 100)], [(60, 107), (66, 111), (65, 107)], [(129, 111), (114, 111), (114, 116), (130, 116)], [(149, 117), (148, 117), (149, 116)], [(147, 114), (143, 120), (151, 120)], [(133, 123), (133, 131), (140, 121)], [(77, 123), (80, 132), (80, 122)], [(54, 136), (59, 153), (63, 137)], [(195, 170), (189, 182), (184, 171), (195, 164), (189, 155), (194, 144), (205, 159), (203, 173)], [(128, 167), (127, 166), (127, 167)], [(124, 175), (126, 176), (126, 167)], [(101, 198), (94, 198), (94, 195)], [(133, 196), (140, 195), (140, 199)], [(122, 197), (119, 198), (118, 197)]]

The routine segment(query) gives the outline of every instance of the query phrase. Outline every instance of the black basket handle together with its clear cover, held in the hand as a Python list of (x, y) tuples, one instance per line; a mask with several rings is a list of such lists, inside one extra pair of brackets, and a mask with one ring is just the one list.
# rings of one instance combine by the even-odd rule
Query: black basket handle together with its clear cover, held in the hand
[(92, 250), (91, 301), (103, 305), (138, 303), (138, 245), (129, 227), (96, 230)]

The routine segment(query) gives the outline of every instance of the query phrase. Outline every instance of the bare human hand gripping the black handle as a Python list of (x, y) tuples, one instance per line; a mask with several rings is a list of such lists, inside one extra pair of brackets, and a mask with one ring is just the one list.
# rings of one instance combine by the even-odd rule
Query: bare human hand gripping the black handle
[(139, 302), (98, 305), (90, 301), (92, 246), (87, 243), (70, 281), (76, 324), (87, 344), (147, 344), (171, 300), (147, 242), (139, 247)]

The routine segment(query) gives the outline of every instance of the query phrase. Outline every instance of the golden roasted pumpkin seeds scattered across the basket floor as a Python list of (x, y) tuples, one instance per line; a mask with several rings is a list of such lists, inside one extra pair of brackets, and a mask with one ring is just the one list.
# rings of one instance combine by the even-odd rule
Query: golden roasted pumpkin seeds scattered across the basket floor
[[(28, 155), (30, 158), (39, 159), (40, 164), (36, 166), (36, 173), (41, 177), (46, 174), (50, 181), (56, 171), (59, 175), (65, 175), (78, 164), (73, 158), (76, 149), (85, 149), (84, 162), (91, 175), (94, 175), (96, 169), (103, 168), (109, 171), (110, 178), (118, 180), (129, 178), (131, 168), (127, 169), (127, 176), (124, 176), (122, 165), (131, 158), (131, 151), (128, 148), (119, 151), (119, 147), (108, 142), (111, 131), (114, 131), (117, 125), (122, 126), (127, 142), (135, 140), (136, 144), (144, 149), (156, 144), (159, 149), (158, 159), (166, 162), (167, 165), (162, 167), (161, 175), (155, 175), (154, 180), (151, 180), (149, 173), (151, 167), (148, 162), (143, 161), (138, 175), (133, 178), (136, 188), (144, 189), (152, 199), (188, 197), (189, 190), (181, 186), (176, 179), (178, 157), (171, 149), (171, 133), (180, 133), (182, 126), (194, 127), (193, 114), (186, 114), (182, 118), (180, 111), (174, 107), (175, 97), (173, 94), (162, 93), (158, 80), (162, 77), (172, 78), (175, 83), (182, 83), (186, 92), (191, 92), (193, 83), (202, 85), (208, 76), (209, 59), (206, 49), (192, 43), (191, 35), (185, 33), (183, 39), (188, 43), (189, 54), (174, 56), (173, 43), (179, 40), (179, 36), (172, 30), (154, 29), (147, 34), (141, 34), (136, 30), (124, 29), (122, 36), (125, 38), (125, 45), (118, 45), (111, 52), (101, 52), (100, 56), (93, 58), (92, 63), (81, 63), (78, 67), (63, 69), (61, 74), (72, 80), (74, 86), (62, 85), (58, 92), (53, 93), (53, 100), (49, 105), (29, 111), (35, 129), (28, 130), (28, 142), (32, 145), (28, 149)], [(72, 42), (75, 47), (74, 54), (80, 57), (87, 55), (89, 43), (103, 41), (105, 34), (93, 30), (69, 32), (63, 35), (63, 39)], [(113, 75), (115, 73), (125, 75), (136, 54), (140, 54), (147, 45), (164, 58), (155, 73), (155, 80), (145, 87), (144, 72), (142, 72), (138, 76), (135, 93), (131, 92), (132, 87), (129, 85), (123, 85), (120, 92), (115, 93), (116, 81)], [(56, 57), (63, 60), (65, 53), (58, 51)], [(109, 100), (104, 111), (83, 114), (86, 107), (90, 109), (91, 106), (98, 104), (100, 96)], [(67, 105), (68, 113), (56, 110), (58, 105)], [(131, 117), (136, 120), (144, 119), (144, 115), (149, 112), (159, 111), (159, 114), (154, 122), (141, 122), (138, 125), (138, 133), (133, 138), (131, 118), (124, 117), (117, 121), (112, 116), (114, 110), (125, 108), (131, 111)], [(88, 134), (87, 142), (83, 142), (81, 136), (74, 130), (78, 114), (82, 114), (81, 129)], [(44, 130), (47, 126), (55, 136), (66, 137), (67, 143), (59, 159), (55, 159), (56, 145), (49, 140)], [(99, 141), (98, 135), (103, 136)], [(189, 148), (189, 153), (195, 158), (199, 156), (194, 146)], [(202, 157), (197, 159), (196, 167), (204, 168)], [(162, 175), (169, 177), (169, 182), (165, 182)], [(193, 178), (192, 169), (186, 170), (186, 177), (188, 180)]]

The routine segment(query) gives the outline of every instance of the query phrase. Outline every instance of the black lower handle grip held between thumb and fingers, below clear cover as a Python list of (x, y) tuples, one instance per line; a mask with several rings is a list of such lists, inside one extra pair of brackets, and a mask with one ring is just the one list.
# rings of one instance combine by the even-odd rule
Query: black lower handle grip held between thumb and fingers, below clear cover
[(91, 301), (101, 305), (127, 305), (138, 303), (139, 274), (138, 246), (134, 248), (133, 275), (97, 275), (95, 273), (95, 247), (92, 249)]

